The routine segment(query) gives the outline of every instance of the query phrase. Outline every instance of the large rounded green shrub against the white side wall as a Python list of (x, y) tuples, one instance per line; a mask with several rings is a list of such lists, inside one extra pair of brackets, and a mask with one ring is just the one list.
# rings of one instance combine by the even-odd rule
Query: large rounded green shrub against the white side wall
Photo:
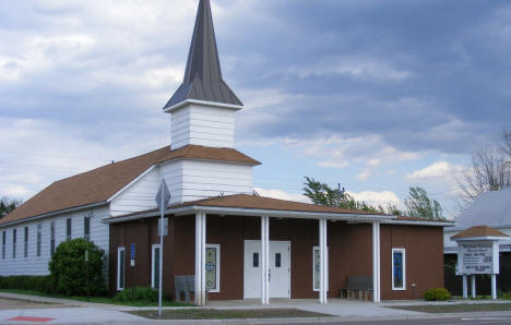
[[(88, 263), (85, 262), (85, 251), (88, 251)], [(88, 273), (90, 294), (104, 294), (104, 255), (102, 249), (83, 238), (59, 244), (49, 262), (51, 293), (85, 296)]]

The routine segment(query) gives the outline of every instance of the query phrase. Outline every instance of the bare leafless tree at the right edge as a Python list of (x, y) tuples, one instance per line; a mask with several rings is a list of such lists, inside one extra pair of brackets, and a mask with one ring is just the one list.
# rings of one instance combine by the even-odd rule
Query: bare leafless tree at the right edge
[(463, 205), (471, 204), (480, 193), (499, 191), (511, 185), (511, 131), (499, 141), (472, 156), (472, 168), (456, 179)]

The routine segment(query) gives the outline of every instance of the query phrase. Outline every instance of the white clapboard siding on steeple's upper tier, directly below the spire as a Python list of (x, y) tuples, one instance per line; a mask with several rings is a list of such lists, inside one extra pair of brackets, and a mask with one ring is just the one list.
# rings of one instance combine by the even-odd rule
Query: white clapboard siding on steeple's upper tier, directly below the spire
[(190, 104), (171, 117), (173, 148), (194, 144), (234, 147), (235, 111), (233, 109)]

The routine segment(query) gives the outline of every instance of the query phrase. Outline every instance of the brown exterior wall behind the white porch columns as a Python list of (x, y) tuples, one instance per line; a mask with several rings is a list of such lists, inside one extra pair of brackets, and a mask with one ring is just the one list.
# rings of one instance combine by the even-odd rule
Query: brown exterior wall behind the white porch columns
[[(206, 243), (221, 245), (221, 292), (212, 300), (243, 298), (245, 240), (259, 240), (257, 217), (206, 218)], [(318, 245), (318, 220), (270, 219), (270, 240), (290, 241), (290, 296), (317, 298), (312, 290), (312, 248)], [(174, 276), (194, 274), (194, 216), (169, 217), (164, 242), (164, 290), (174, 298)], [(117, 248), (126, 248), (126, 288), (151, 286), (151, 248), (159, 243), (157, 218), (110, 226), (110, 288), (117, 288)], [(372, 276), (371, 225), (328, 224), (330, 262), (329, 297), (338, 297), (348, 276)], [(442, 229), (440, 227), (381, 226), (382, 299), (413, 299), (433, 287), (443, 287)], [(130, 244), (136, 244), (135, 266), (130, 266)], [(392, 248), (406, 249), (406, 291), (391, 289)], [(411, 284), (416, 284), (416, 290)]]

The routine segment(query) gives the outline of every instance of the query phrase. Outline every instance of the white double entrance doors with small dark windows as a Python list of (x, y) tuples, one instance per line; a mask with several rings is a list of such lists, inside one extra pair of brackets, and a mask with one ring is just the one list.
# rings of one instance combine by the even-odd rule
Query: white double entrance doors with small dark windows
[[(270, 298), (290, 298), (290, 242), (270, 241)], [(245, 241), (245, 299), (261, 298), (261, 241)]]

